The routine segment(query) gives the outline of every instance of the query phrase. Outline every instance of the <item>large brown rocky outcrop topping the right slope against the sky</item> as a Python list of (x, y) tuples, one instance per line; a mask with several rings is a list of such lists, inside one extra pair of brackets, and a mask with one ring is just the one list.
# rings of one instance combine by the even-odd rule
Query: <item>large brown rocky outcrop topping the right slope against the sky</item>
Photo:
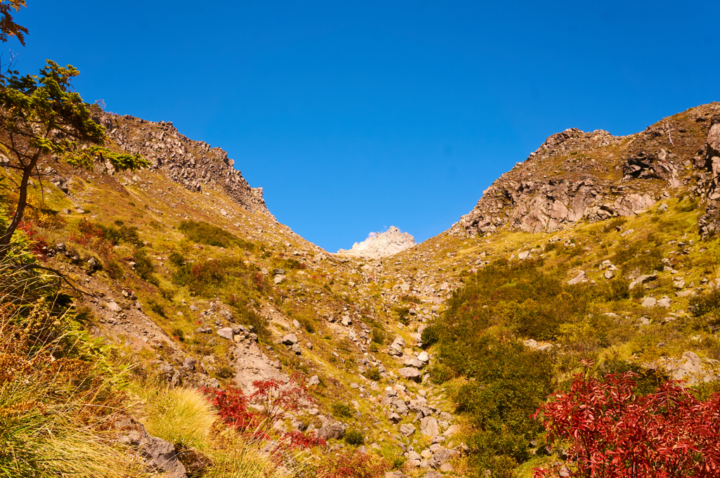
[[(720, 104), (675, 114), (644, 132), (564, 130), (547, 138), (483, 192), (451, 232), (474, 236), (502, 225), (530, 233), (641, 212), (689, 187), (706, 200), (703, 235), (720, 227)], [(693, 168), (694, 166), (694, 168)]]

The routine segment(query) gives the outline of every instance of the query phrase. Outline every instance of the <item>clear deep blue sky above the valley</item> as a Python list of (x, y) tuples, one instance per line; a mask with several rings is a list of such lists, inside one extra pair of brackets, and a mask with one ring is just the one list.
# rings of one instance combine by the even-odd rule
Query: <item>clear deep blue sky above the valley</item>
[(27, 3), (23, 73), (71, 63), (86, 101), (227, 150), (328, 251), (441, 233), (554, 132), (720, 100), (707, 0)]

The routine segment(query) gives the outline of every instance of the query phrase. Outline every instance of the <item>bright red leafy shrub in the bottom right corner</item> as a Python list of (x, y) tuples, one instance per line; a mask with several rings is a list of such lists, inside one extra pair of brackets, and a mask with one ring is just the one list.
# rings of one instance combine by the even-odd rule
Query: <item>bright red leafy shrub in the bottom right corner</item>
[[(575, 376), (570, 392), (556, 392), (534, 415), (548, 441), (567, 441), (567, 477), (675, 478), (720, 476), (720, 393), (698, 400), (666, 382), (637, 397), (636, 374), (604, 379)], [(557, 476), (536, 469), (534, 477)], [(568, 474), (569, 473), (569, 474)]]

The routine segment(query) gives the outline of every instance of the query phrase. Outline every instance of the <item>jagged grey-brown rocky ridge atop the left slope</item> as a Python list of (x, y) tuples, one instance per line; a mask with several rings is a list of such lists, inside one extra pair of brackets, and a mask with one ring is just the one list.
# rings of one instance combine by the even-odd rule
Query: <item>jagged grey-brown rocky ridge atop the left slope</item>
[[(151, 122), (99, 109), (94, 119), (105, 127), (109, 139), (120, 149), (143, 155), (153, 163), (153, 168), (186, 189), (217, 189), (244, 209), (271, 216), (263, 189), (251, 187), (240, 171), (233, 168), (234, 161), (224, 150), (211, 148), (204, 141), (190, 140), (171, 122)], [(109, 165), (106, 170), (114, 172)]]

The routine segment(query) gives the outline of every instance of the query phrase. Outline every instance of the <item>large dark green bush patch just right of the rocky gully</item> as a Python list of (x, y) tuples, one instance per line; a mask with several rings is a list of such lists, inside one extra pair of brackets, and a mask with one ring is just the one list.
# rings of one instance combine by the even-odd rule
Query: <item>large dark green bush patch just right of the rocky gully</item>
[(467, 445), (473, 469), (513, 476), (539, 452), (544, 430), (530, 416), (559, 385), (560, 356), (553, 349), (531, 350), (522, 339), (567, 343), (568, 351), (575, 341), (608, 343), (611, 319), (593, 307), (625, 299), (627, 283), (618, 278), (570, 286), (565, 271), (547, 271), (533, 261), (493, 263), (469, 276), (421, 334), (423, 346), (438, 346), (433, 382), (465, 378), (453, 399), (472, 426)]

